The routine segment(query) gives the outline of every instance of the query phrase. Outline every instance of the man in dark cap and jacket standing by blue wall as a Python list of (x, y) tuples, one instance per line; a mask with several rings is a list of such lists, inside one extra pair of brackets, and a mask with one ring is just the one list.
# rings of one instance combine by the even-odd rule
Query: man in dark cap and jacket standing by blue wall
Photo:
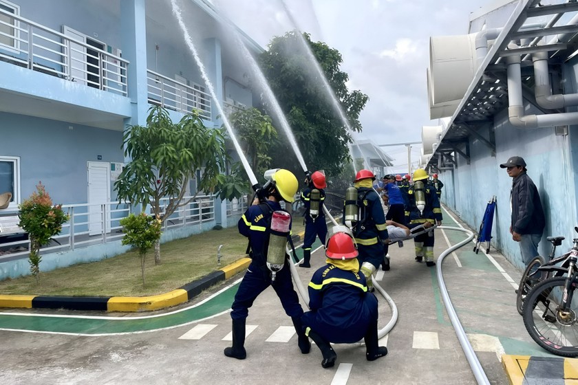
[(520, 243), (520, 253), (524, 265), (538, 255), (538, 243), (542, 239), (546, 220), (538, 190), (528, 174), (524, 158), (513, 156), (508, 162), (500, 164), (513, 178), (510, 192), (512, 221), (510, 234)]

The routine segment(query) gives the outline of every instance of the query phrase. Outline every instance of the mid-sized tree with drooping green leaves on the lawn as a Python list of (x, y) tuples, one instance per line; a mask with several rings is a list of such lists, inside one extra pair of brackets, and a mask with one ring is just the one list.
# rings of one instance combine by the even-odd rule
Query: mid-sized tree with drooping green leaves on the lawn
[[(173, 123), (162, 107), (151, 107), (146, 126), (129, 126), (125, 131), (125, 165), (114, 188), (120, 201), (151, 205), (161, 223), (197, 193), (183, 201), (186, 186), (195, 170), (203, 169), (197, 190), (215, 191), (226, 166), (224, 133), (204, 126), (197, 113), (189, 113)], [(164, 210), (161, 199), (168, 198)], [(155, 244), (155, 264), (160, 265), (160, 241)]]

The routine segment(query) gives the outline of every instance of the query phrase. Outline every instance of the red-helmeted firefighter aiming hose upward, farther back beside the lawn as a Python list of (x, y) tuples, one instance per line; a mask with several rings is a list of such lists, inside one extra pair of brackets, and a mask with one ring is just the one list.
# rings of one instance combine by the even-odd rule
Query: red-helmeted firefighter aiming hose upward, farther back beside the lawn
[(327, 223), (325, 223), (325, 212), (323, 212), (323, 201), (325, 201), (325, 175), (321, 171), (315, 171), (310, 177), (305, 179), (307, 187), (301, 192), (301, 201), (305, 206), (305, 238), (303, 239), (303, 262), (299, 267), (311, 267), (311, 246), (315, 238), (325, 245), (327, 236)]

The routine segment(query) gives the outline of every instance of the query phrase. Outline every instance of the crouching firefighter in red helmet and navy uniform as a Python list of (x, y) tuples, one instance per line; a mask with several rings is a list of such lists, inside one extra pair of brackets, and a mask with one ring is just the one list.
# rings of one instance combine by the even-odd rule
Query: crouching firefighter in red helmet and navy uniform
[(309, 283), (310, 311), (301, 320), (306, 334), (317, 344), (321, 366), (334, 366), (333, 343), (365, 340), (365, 358), (377, 360), (387, 354), (378, 346), (378, 301), (368, 292), (365, 276), (359, 274), (358, 251), (350, 229), (336, 225), (325, 245), (327, 265), (317, 270)]

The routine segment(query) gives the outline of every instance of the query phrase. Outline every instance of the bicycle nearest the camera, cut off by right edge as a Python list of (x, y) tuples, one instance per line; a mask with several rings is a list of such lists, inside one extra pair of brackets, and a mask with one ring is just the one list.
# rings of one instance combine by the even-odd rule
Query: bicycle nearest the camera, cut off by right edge
[[(578, 227), (575, 228), (578, 232)], [(531, 338), (550, 353), (578, 356), (578, 238), (562, 266), (538, 267), (537, 272), (554, 276), (535, 284), (526, 295), (522, 317)], [(564, 259), (564, 256), (558, 260)], [(565, 274), (560, 276), (560, 274)]]

